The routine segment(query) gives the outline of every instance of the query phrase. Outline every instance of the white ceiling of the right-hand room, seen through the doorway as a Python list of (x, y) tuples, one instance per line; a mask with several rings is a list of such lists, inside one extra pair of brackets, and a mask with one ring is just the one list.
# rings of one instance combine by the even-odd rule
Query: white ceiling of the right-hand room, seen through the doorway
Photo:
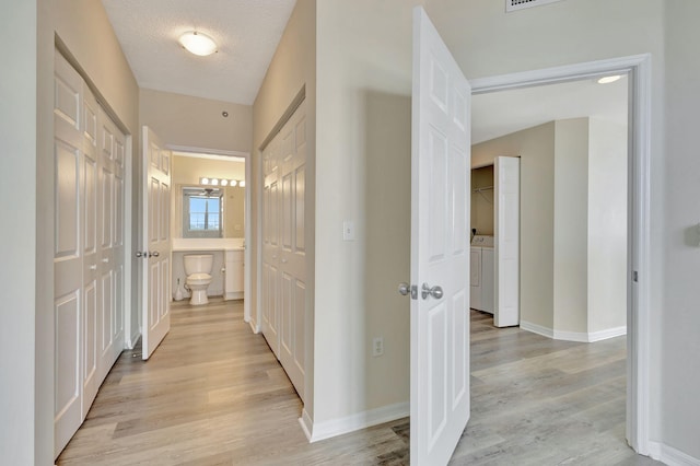
[(557, 119), (594, 117), (627, 125), (627, 84), (593, 79), (475, 95), (471, 142), (479, 143)]

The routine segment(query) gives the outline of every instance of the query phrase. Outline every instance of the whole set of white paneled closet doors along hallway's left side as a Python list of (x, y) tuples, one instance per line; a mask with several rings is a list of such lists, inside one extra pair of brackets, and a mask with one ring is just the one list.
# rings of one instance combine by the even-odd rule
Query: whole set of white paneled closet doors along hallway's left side
[(126, 137), (56, 50), (55, 455), (124, 349)]

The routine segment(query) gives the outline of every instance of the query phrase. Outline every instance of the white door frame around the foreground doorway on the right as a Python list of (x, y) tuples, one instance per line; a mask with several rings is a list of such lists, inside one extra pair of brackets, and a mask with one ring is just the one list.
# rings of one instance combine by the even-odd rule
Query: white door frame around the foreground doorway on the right
[[(627, 440), (650, 453), (651, 55), (634, 55), (470, 80), (471, 94), (555, 84), (607, 74), (629, 77), (627, 254)], [(633, 275), (638, 278), (633, 280)]]

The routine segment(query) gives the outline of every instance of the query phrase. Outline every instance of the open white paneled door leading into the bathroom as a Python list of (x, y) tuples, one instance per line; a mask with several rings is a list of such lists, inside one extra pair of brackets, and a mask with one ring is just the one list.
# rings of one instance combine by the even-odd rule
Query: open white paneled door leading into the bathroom
[(171, 152), (143, 127), (142, 357), (149, 359), (171, 329)]

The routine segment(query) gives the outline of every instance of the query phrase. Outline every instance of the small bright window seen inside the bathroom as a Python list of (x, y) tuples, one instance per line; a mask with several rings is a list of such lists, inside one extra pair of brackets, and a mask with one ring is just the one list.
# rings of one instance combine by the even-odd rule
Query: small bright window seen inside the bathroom
[(222, 220), (221, 189), (183, 189), (183, 237), (222, 237)]

